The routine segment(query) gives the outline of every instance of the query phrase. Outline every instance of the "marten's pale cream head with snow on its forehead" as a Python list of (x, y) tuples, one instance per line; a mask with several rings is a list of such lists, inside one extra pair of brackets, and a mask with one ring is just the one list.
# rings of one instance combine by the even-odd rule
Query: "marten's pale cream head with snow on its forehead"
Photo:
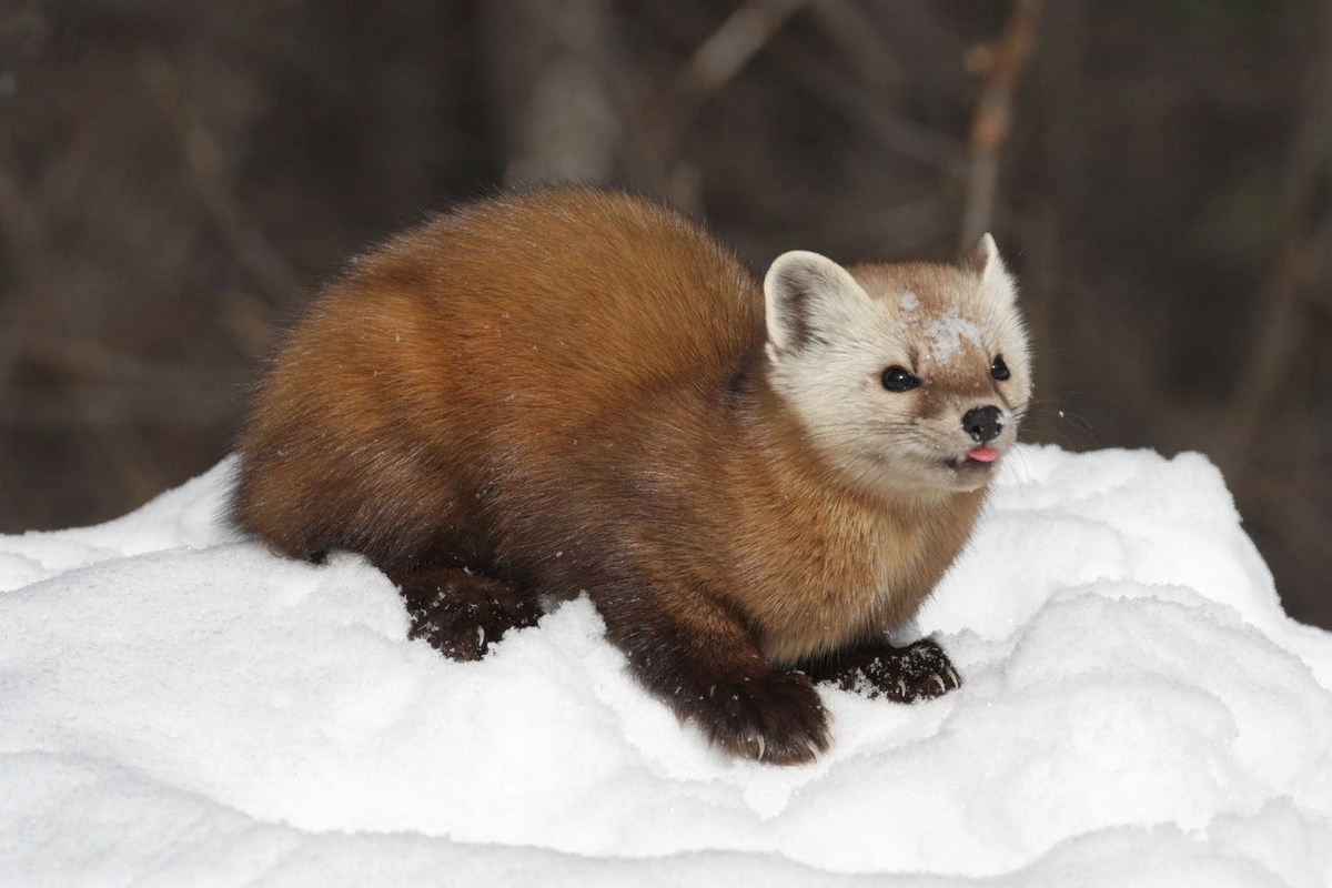
[(975, 490), (1031, 397), (1016, 288), (986, 234), (958, 265), (779, 256), (767, 378), (815, 447), (886, 491)]

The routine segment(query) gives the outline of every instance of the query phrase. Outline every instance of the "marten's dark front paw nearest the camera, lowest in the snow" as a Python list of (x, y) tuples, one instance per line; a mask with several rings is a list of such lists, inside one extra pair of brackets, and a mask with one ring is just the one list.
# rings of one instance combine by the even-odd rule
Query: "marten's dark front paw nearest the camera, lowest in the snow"
[(733, 755), (799, 764), (829, 748), (829, 716), (814, 684), (798, 672), (729, 680), (682, 700), (678, 711)]

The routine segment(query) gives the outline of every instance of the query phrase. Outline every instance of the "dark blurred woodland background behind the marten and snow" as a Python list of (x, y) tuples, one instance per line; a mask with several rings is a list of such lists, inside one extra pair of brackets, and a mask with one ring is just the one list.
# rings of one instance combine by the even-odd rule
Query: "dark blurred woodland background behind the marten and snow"
[(1332, 627), (1328, 0), (0, 0), (0, 533), (228, 453), (348, 254), (615, 182), (761, 272), (994, 230), (1024, 437), (1200, 450)]

